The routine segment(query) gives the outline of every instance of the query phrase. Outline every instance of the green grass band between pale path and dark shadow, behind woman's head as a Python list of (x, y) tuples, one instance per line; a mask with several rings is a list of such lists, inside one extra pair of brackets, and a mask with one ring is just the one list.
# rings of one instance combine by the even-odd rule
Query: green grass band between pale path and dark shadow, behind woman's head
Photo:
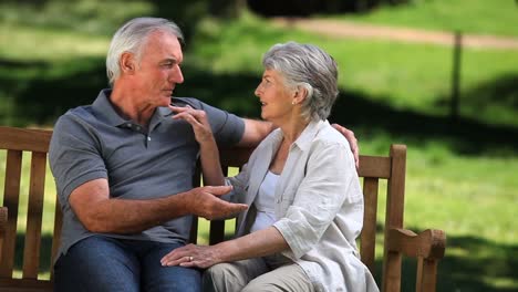
[[(220, 27), (207, 21), (201, 25), (200, 34), (190, 44), (191, 52), (186, 55), (186, 62), (195, 62), (197, 70), (259, 76), (262, 70), (260, 58), (271, 44), (290, 40), (312, 42), (336, 59), (343, 88), (363, 93), (372, 102), (396, 109), (436, 116), (449, 113), (453, 70), (450, 48), (390, 41), (334, 40), (274, 29), (253, 18)], [(517, 63), (517, 51), (465, 48), (460, 72), (462, 115), (487, 124), (518, 125), (518, 115), (514, 108), (509, 108), (516, 102), (512, 84), (516, 84), (518, 74)], [(189, 76), (188, 71), (185, 74)], [(506, 81), (506, 77), (509, 80)], [(503, 90), (498, 96), (494, 96), (489, 88), (494, 88), (499, 81), (507, 82), (501, 84), (503, 87), (511, 88)], [(249, 88), (249, 98), (255, 98), (253, 88)], [(182, 86), (179, 90), (183, 90)]]

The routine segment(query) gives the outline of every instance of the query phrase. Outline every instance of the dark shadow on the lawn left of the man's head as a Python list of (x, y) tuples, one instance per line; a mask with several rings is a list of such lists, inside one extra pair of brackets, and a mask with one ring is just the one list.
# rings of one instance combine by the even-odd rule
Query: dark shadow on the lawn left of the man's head
[(44, 63), (0, 60), (0, 96), (10, 96), (10, 112), (1, 119), (15, 126), (52, 125), (69, 108), (92, 103), (106, 87), (104, 59)]

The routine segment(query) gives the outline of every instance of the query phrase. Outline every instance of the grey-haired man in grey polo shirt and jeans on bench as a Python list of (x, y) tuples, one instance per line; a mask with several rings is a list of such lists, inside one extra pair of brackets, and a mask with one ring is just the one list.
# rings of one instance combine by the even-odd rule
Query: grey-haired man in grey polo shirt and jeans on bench
[[(190, 215), (213, 219), (247, 208), (218, 198), (229, 187), (193, 189), (199, 145), (169, 108), (184, 81), (182, 40), (165, 19), (125, 23), (106, 58), (112, 88), (56, 122), (50, 163), (63, 231), (55, 291), (200, 291), (199, 270), (160, 259), (185, 246)], [(195, 98), (173, 102), (203, 109), (219, 145), (257, 145), (272, 131)]]

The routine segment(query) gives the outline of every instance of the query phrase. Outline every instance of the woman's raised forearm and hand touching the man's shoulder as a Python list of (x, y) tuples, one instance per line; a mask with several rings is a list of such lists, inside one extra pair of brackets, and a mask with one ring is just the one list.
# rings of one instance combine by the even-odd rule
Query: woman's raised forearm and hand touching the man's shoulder
[(219, 150), (210, 129), (207, 115), (204, 111), (194, 109), (190, 106), (178, 107), (169, 106), (177, 113), (173, 118), (182, 118), (193, 126), (196, 140), (199, 144), (199, 154), (201, 161), (201, 171), (205, 186), (225, 185), (221, 166), (219, 163)]

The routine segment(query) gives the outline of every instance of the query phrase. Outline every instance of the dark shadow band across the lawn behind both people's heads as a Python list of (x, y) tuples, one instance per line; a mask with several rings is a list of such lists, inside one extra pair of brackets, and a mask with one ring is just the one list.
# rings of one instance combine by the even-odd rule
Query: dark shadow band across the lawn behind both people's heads
[[(106, 87), (104, 59), (80, 59), (54, 64), (37, 64), (0, 60), (0, 98), (2, 91), (11, 96), (10, 112), (0, 113), (4, 121), (22, 126), (30, 124), (52, 125), (56, 117), (66, 109), (90, 104), (99, 91)], [(260, 76), (249, 73), (215, 74), (196, 66), (184, 67), (186, 81), (177, 86), (175, 95), (196, 96), (208, 104), (226, 108), (241, 116), (258, 117), (260, 106), (253, 96)], [(480, 103), (477, 92), (480, 88), (495, 88), (495, 95), (503, 92), (509, 98), (516, 98), (518, 75), (506, 75), (477, 88), (468, 90), (473, 96), (466, 101)], [(510, 93), (510, 94), (509, 94)], [(484, 95), (486, 96), (486, 95)], [(493, 95), (491, 95), (493, 96)], [(515, 97), (512, 97), (515, 96)], [(353, 129), (364, 128), (373, 132), (390, 133), (419, 143), (441, 140), (456, 153), (464, 155), (497, 154), (516, 155), (518, 149), (518, 127), (488, 125), (472, 118), (459, 118), (456, 123), (446, 116), (432, 116), (423, 113), (402, 111), (383, 101), (362, 93), (342, 90), (331, 121)], [(503, 106), (515, 111), (509, 101), (499, 101), (498, 96), (486, 100), (487, 103), (504, 103)], [(512, 101), (516, 104), (516, 100)], [(4, 118), (9, 116), (9, 118)]]

